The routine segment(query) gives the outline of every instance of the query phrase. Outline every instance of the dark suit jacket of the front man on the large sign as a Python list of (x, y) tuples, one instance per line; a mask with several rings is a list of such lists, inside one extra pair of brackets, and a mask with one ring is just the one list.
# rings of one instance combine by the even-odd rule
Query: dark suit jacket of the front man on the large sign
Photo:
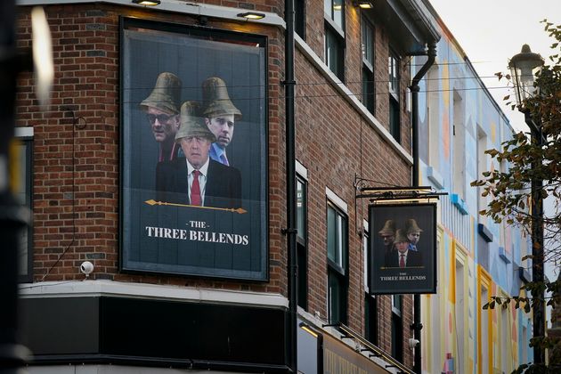
[[(159, 162), (156, 167), (156, 190), (159, 201), (191, 204), (187, 163), (184, 157)], [(241, 207), (241, 174), (235, 167), (226, 167), (209, 160), (204, 207)]]

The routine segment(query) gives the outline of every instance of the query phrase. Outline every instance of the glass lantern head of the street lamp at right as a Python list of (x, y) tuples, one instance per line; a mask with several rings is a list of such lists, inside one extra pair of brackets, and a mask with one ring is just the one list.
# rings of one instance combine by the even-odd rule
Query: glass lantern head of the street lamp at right
[(530, 45), (523, 45), (522, 51), (508, 61), (516, 93), (516, 103), (520, 108), (524, 106), (524, 100), (530, 99), (538, 93), (539, 90), (534, 86), (534, 80), (542, 66), (541, 55), (533, 53)]

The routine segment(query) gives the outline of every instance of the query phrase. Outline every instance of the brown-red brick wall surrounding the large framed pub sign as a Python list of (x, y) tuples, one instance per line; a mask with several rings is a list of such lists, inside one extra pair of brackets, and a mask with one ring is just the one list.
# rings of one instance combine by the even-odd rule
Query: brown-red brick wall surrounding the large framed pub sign
[[(29, 8), (20, 7), (20, 47), (30, 45)], [(118, 17), (134, 16), (193, 24), (196, 19), (166, 12), (103, 4), (48, 6), (53, 33), (53, 100), (40, 109), (33, 77), (20, 78), (17, 126), (33, 126), (34, 280), (83, 279), (78, 266), (93, 260), (93, 279), (245, 289), (286, 294), (285, 244), (280, 240), (283, 194), (272, 190), (270, 282), (247, 283), (118, 271), (119, 60)], [(255, 23), (213, 22), (209, 27), (236, 28), (278, 40), (276, 28)], [(282, 42), (269, 52), (271, 175), (279, 173), (279, 66)], [(72, 156), (74, 152), (74, 157)], [(74, 163), (74, 165), (73, 165)], [(74, 173), (73, 173), (74, 170)], [(273, 181), (273, 180), (272, 180)], [(272, 185), (274, 182), (272, 182)], [(73, 192), (74, 191), (74, 195)]]

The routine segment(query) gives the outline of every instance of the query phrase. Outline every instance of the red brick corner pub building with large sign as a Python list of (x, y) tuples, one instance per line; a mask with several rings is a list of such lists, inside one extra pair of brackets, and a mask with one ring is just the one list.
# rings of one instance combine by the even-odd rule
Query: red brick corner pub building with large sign
[[(21, 48), (31, 45), (30, 5), (44, 5), (55, 69), (47, 108), (31, 74), (17, 93), (22, 196), (34, 221), (20, 256), (29, 371), (287, 372), (285, 4), (133, 3), (19, 3)], [(378, 232), (357, 183), (411, 185), (408, 61), (438, 34), (422, 2), (323, 3), (295, 1), (298, 369), (407, 370), (412, 297), (369, 295), (365, 243)], [(182, 81), (180, 100), (147, 120), (142, 105), (164, 71)], [(158, 161), (172, 162), (157, 159), (164, 145), (150, 121), (176, 115), (191, 126), (180, 104), (208, 108), (200, 87), (209, 76), (224, 79), (241, 112), (225, 150), (245, 211), (192, 207), (191, 190), (186, 204), (150, 206)]]

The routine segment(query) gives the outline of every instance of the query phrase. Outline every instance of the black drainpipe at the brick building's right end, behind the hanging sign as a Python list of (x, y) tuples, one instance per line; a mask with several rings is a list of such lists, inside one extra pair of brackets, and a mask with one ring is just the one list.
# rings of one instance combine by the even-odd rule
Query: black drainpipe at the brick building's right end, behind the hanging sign
[[(411, 129), (412, 129), (412, 153), (413, 153), (413, 187), (419, 187), (419, 82), (422, 77), (427, 74), (428, 69), (435, 63), (436, 57), (436, 43), (430, 42), (428, 44), (427, 50), (428, 60), (419, 69), (419, 72), (413, 77), (411, 81)], [(413, 329), (413, 337), (419, 340), (419, 344), (415, 346), (415, 361), (413, 364), (413, 371), (420, 374), (421, 373), (421, 337), (420, 331), (423, 329), (423, 324), (421, 323), (421, 306), (420, 306), (420, 295), (413, 296), (413, 323), (411, 323), (411, 329)]]

